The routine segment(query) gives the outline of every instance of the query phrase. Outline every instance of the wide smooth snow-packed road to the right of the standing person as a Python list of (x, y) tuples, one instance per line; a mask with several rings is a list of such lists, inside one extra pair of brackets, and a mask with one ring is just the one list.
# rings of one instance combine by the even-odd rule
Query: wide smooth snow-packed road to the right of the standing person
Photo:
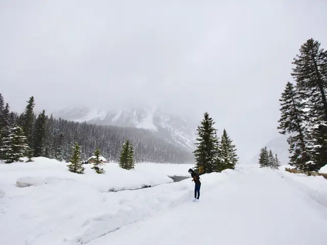
[(215, 187), (204, 185), (200, 203), (185, 202), (88, 244), (325, 244), (327, 203), (319, 198), (327, 181), (316, 179), (323, 192), (312, 199), (296, 176), (282, 177), (271, 169), (239, 171)]

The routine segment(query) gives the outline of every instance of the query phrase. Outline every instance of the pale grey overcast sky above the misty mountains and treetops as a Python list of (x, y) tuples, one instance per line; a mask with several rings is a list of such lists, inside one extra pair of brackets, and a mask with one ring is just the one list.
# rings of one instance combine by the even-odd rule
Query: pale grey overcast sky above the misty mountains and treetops
[(300, 45), (327, 48), (326, 13), (325, 0), (0, 0), (0, 92), (19, 112), (31, 95), (39, 110), (208, 111), (247, 160), (278, 136)]

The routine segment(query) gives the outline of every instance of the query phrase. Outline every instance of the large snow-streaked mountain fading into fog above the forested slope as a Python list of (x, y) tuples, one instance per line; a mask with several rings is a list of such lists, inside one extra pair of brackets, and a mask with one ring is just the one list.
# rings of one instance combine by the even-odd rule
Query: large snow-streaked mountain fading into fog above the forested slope
[(65, 108), (53, 113), (56, 118), (87, 121), (98, 125), (143, 128), (161, 139), (189, 151), (194, 150), (197, 125), (189, 119), (153, 107), (126, 110), (98, 110), (87, 107)]

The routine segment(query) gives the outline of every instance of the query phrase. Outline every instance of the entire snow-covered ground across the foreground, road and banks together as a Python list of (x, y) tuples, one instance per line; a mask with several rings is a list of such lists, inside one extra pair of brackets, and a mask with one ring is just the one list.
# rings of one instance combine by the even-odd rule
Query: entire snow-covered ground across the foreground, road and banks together
[[(40, 160), (43, 165), (0, 164), (0, 244), (322, 245), (327, 240), (327, 180), (321, 176), (240, 165), (201, 176), (201, 201), (193, 203), (190, 179), (167, 179), (188, 175), (191, 165), (144, 163), (125, 171), (107, 164), (105, 175), (86, 169), (80, 176), (69, 173), (65, 163)], [(17, 187), (17, 180), (33, 186)], [(105, 191), (150, 182), (161, 185)]]

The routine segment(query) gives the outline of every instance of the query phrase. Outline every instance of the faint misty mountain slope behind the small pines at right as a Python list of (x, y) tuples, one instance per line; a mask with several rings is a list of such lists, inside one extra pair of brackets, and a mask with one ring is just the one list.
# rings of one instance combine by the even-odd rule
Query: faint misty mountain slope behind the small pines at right
[[(266, 145), (267, 150), (271, 150), (273, 154), (277, 154), (277, 157), (279, 161), (281, 161), (282, 165), (287, 165), (289, 162), (289, 156), (290, 153), (288, 152), (289, 145), (287, 143), (287, 136), (285, 135), (279, 135), (276, 138), (273, 138), (270, 140)], [(260, 156), (260, 150), (258, 151), (258, 154), (256, 154), (251, 161), (249, 161), (249, 164), (258, 163)]]

